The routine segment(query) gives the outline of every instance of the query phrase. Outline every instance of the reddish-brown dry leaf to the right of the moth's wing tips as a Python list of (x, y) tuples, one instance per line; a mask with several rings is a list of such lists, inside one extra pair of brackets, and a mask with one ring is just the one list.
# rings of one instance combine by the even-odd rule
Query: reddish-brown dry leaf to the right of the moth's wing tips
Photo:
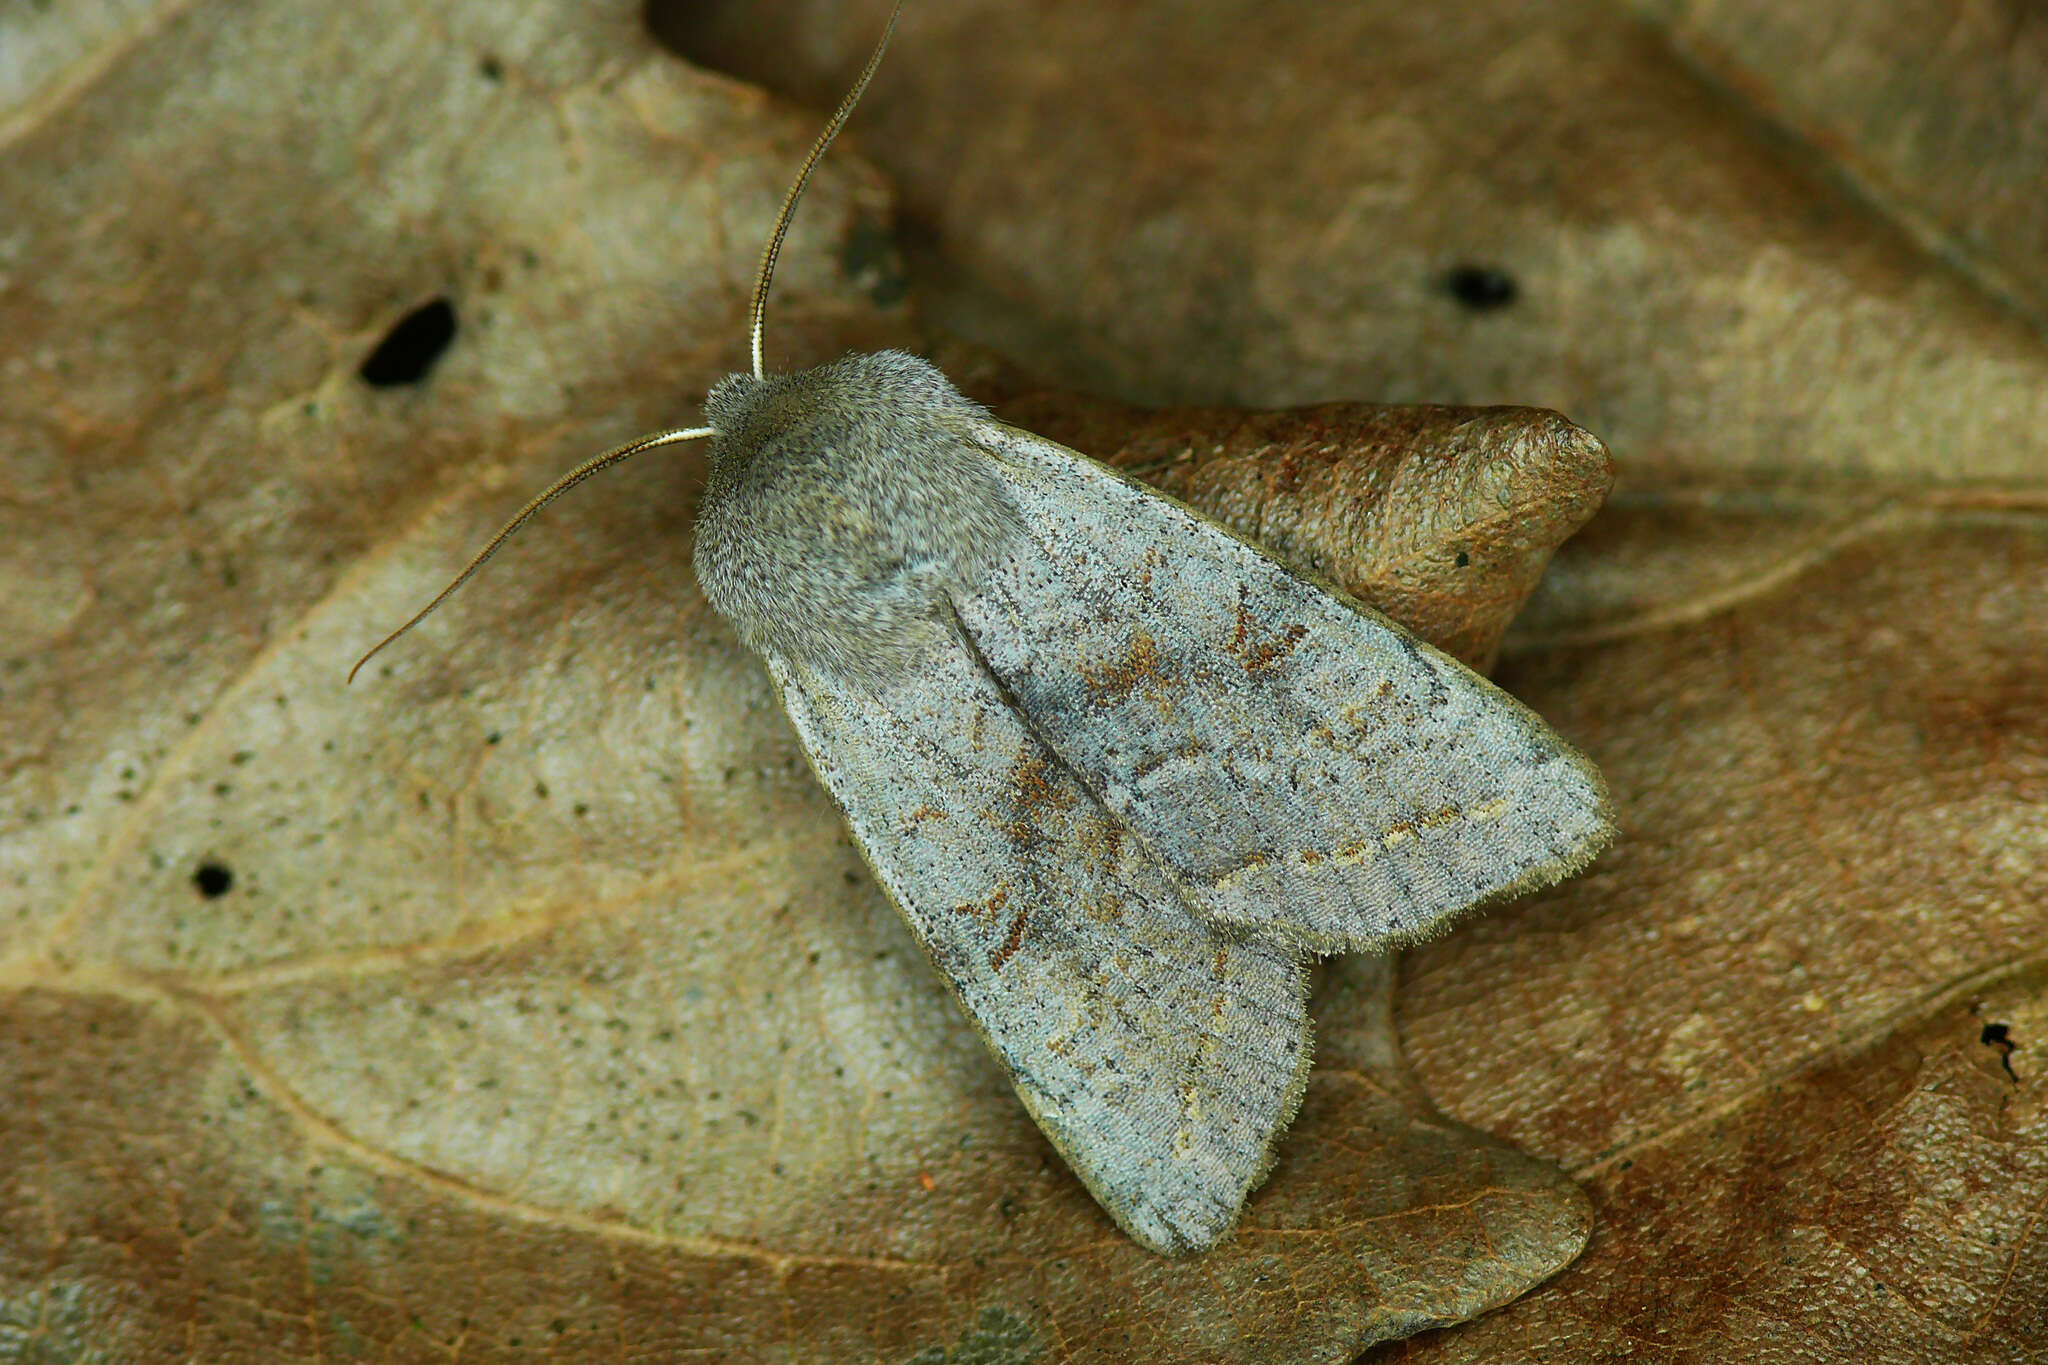
[(1419, 950), (1403, 1038), (1446, 1109), (1587, 1179), (1599, 1228), (1513, 1312), (1384, 1359), (2048, 1351), (2048, 497), (1982, 501), (1892, 501), (1788, 565), (1784, 524), (1835, 499), (1683, 497), (1575, 546), (1759, 571), (1509, 673), (1595, 737), (1624, 837), (1575, 894)]

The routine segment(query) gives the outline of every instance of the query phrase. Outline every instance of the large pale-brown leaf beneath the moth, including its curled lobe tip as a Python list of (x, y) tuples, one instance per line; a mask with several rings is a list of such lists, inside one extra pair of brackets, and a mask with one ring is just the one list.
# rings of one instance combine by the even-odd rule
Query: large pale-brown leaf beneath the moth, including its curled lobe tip
[[(1341, 1359), (1577, 1254), (1583, 1195), (1407, 1081), (1380, 962), (1325, 980), (1237, 1242), (1116, 1234), (680, 569), (700, 452), (342, 688), (731, 364), (803, 119), (584, 10), (88, 18), (0, 172), (43, 209), (0, 295), (0, 1359)], [(881, 213), (827, 170), (778, 348), (901, 329)], [(436, 307), (430, 375), (365, 383)], [(1610, 477), (1544, 413), (1231, 424), (1253, 485), (1198, 483), (1487, 653)], [(1272, 446), (1333, 485), (1266, 489)]]

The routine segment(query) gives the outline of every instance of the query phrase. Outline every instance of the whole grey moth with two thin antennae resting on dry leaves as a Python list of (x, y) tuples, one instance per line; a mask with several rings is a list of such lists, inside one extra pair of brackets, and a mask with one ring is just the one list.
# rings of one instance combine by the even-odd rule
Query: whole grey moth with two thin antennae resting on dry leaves
[(895, 23), (776, 217), (752, 372), (563, 475), (362, 661), (563, 491), (709, 438), (705, 596), (1024, 1109), (1124, 1232), (1198, 1252), (1300, 1103), (1313, 958), (1577, 872), (1608, 792), (1464, 665), (918, 356), (764, 372), (791, 215)]

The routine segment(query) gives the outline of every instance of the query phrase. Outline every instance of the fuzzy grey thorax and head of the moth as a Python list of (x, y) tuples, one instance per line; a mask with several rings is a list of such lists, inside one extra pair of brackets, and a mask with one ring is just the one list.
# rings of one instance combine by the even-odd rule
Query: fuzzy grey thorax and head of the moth
[(987, 413), (915, 356), (731, 375), (705, 422), (696, 577), (760, 655), (866, 681), (913, 667), (1020, 534), (971, 440)]

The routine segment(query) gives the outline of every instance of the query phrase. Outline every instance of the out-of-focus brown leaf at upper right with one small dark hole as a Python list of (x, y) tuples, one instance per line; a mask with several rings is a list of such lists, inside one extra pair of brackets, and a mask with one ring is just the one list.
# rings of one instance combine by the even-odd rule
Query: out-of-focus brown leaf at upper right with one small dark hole
[[(829, 106), (887, 2), (651, 8), (682, 51)], [(1829, 35), (1860, 6), (1782, 8)], [(2023, 49), (1972, 51), (1970, 82), (2040, 98)], [(1626, 4), (911, 6), (860, 127), (926, 239), (920, 301), (1071, 387), (1534, 403), (1624, 485), (2048, 467), (2044, 315), (1929, 260)], [(1972, 158), (1958, 176), (2023, 203), (2042, 180), (2034, 133)], [(1460, 303), (1458, 266), (1513, 305)]]

